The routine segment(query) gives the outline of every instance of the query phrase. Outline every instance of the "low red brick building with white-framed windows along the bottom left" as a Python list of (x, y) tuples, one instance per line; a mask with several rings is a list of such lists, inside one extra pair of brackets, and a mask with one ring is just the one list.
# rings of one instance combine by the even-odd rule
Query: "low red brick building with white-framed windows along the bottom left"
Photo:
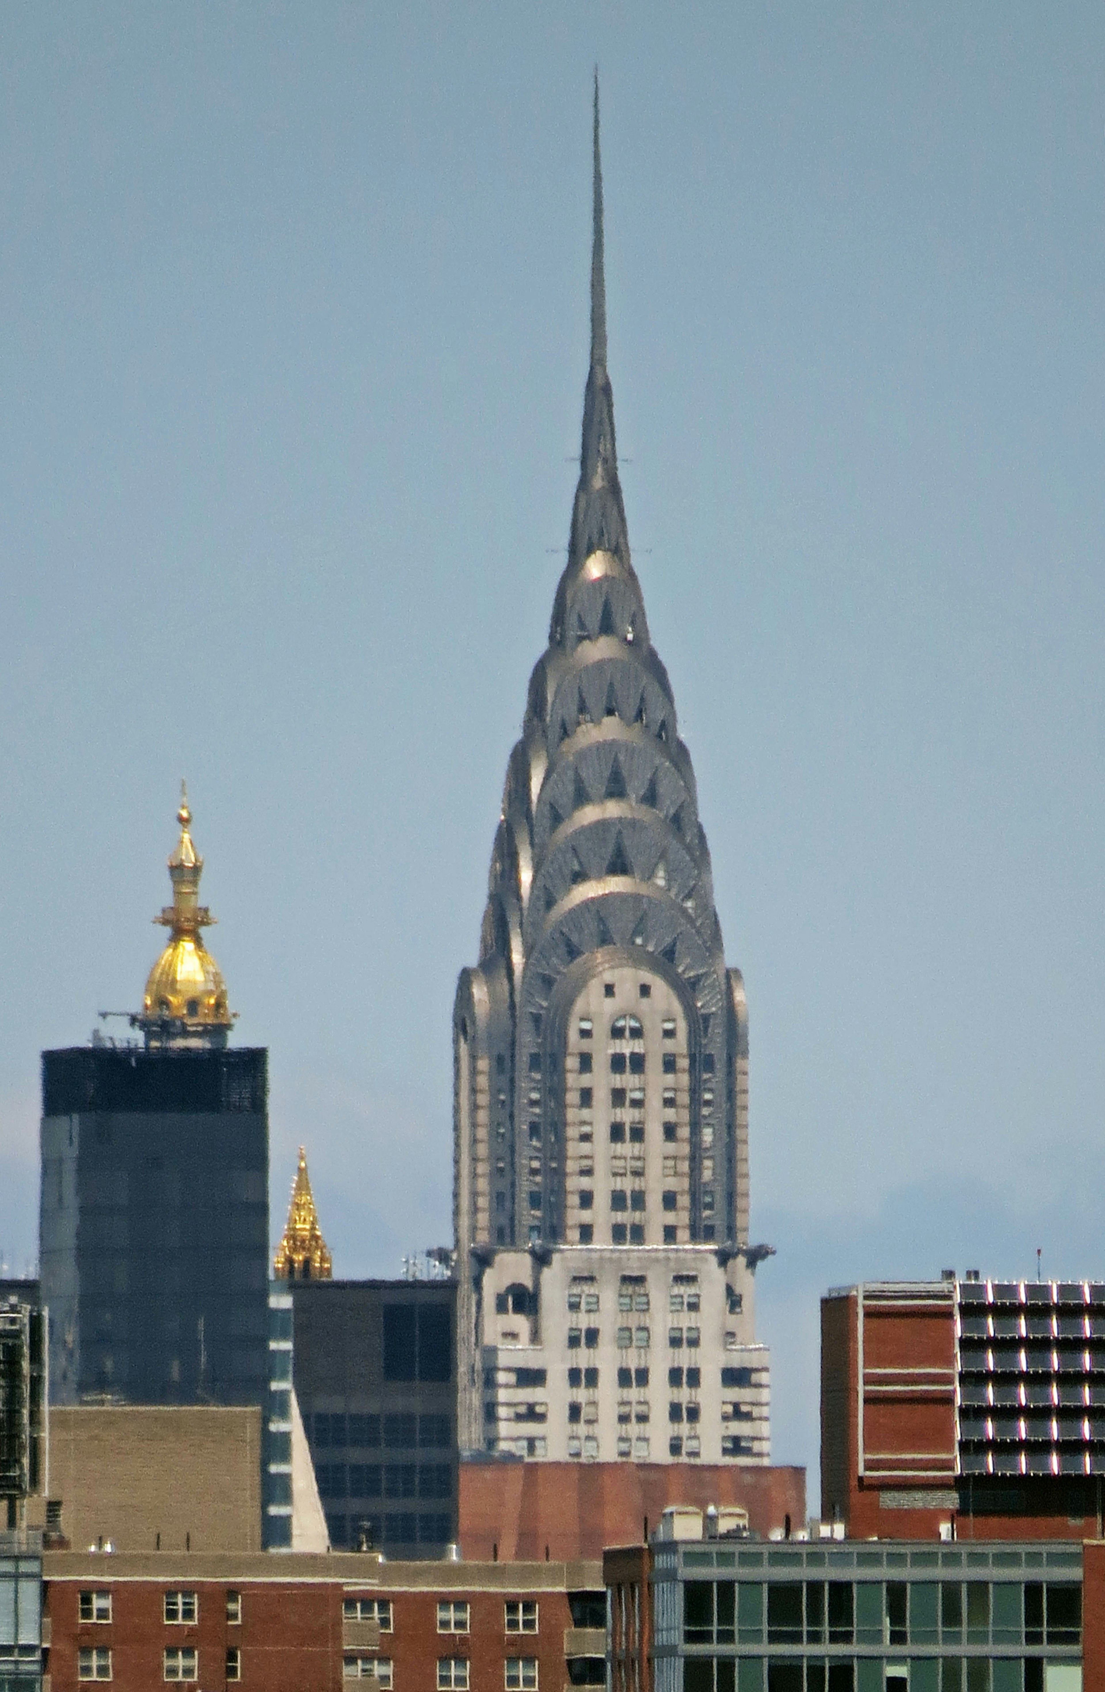
[(51, 1692), (563, 1692), (606, 1678), (599, 1562), (47, 1552)]

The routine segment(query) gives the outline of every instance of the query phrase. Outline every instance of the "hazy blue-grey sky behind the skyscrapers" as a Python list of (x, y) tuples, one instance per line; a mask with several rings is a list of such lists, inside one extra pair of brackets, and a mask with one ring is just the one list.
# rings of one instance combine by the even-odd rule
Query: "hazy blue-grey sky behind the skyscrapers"
[[(450, 1237), (450, 1008), (569, 533), (591, 71), (635, 562), (817, 1298), (1105, 1274), (1105, 10), (0, 15), (0, 1245), (37, 1064), (212, 948), (340, 1274)], [(122, 1029), (122, 1025), (118, 1025)]]

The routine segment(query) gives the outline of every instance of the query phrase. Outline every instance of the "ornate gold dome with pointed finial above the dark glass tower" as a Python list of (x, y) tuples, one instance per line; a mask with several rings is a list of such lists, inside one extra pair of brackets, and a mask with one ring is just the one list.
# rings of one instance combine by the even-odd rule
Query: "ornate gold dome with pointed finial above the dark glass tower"
[(201, 1039), (205, 1044), (225, 1042), (234, 1015), (227, 1007), (227, 983), (200, 931), (210, 927), (215, 917), (200, 904), (200, 876), (203, 858), (191, 834), (188, 788), (181, 782), (181, 807), (176, 812), (181, 838), (169, 856), (173, 904), (166, 905), (154, 922), (171, 929), (169, 942), (149, 971), (142, 1015), (139, 1022), (147, 1037), (156, 1027), (178, 1025), (183, 1039)]

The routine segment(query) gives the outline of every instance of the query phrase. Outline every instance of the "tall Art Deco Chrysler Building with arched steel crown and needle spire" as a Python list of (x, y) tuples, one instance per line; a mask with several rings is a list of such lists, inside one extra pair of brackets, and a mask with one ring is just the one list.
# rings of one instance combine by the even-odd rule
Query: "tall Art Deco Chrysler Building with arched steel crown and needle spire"
[(454, 1054), (462, 1447), (768, 1462), (745, 986), (629, 557), (597, 86), (579, 487)]

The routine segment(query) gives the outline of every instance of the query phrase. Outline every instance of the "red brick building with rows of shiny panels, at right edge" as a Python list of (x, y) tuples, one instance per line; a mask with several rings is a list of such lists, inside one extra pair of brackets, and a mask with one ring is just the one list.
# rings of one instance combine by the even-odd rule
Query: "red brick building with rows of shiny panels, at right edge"
[(821, 1301), (821, 1514), (849, 1538), (1100, 1538), (1103, 1482), (1105, 1286)]

